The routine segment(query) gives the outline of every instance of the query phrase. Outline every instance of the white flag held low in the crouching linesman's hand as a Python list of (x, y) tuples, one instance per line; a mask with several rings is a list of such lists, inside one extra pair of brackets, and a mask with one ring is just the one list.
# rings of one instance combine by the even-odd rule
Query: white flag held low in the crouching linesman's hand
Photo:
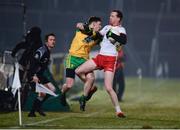
[(38, 83), (36, 83), (36, 92), (47, 93), (47, 94), (55, 96), (55, 97), (58, 96), (53, 91), (51, 91), (50, 89), (46, 88), (44, 85), (38, 84)]

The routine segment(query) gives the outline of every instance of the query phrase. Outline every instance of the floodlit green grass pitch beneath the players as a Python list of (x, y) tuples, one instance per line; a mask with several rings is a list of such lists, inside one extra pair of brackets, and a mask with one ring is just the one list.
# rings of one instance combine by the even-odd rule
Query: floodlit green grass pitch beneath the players
[(70, 102), (70, 112), (47, 112), (46, 117), (28, 118), (23, 112), (23, 126), (18, 126), (18, 112), (0, 113), (0, 128), (179, 128), (180, 80), (126, 79), (122, 110), (124, 119), (115, 116), (108, 94), (99, 89), (87, 103), (86, 111), (78, 102)]

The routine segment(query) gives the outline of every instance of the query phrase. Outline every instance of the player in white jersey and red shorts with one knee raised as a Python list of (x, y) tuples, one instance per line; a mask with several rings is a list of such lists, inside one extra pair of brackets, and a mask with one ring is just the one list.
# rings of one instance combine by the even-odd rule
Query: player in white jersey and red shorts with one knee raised
[[(122, 18), (123, 14), (121, 11), (113, 10), (111, 12), (109, 25), (106, 25), (98, 34), (98, 37), (102, 37), (99, 54), (76, 69), (76, 74), (80, 77), (84, 77), (86, 73), (96, 69), (104, 70), (105, 89), (111, 97), (111, 101), (118, 117), (125, 117), (125, 115), (121, 111), (117, 95), (112, 87), (112, 82), (115, 71), (116, 56), (118, 55), (117, 48), (126, 44), (127, 41), (125, 28), (121, 26)], [(85, 102), (80, 102), (80, 107), (85, 107)]]

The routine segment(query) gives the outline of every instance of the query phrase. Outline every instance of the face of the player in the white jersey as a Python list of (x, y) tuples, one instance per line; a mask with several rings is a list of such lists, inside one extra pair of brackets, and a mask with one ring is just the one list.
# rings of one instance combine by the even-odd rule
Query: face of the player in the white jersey
[(109, 24), (112, 26), (117, 26), (120, 23), (120, 18), (117, 17), (117, 12), (111, 12), (109, 17)]

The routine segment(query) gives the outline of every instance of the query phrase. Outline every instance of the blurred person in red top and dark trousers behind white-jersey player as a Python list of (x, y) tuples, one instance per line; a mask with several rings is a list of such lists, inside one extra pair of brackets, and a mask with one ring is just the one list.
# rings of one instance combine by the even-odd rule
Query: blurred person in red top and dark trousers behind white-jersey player
[(118, 101), (122, 101), (124, 89), (125, 89), (124, 65), (125, 65), (125, 54), (123, 49), (121, 49), (118, 52), (116, 71), (113, 80), (113, 89), (117, 94)]

